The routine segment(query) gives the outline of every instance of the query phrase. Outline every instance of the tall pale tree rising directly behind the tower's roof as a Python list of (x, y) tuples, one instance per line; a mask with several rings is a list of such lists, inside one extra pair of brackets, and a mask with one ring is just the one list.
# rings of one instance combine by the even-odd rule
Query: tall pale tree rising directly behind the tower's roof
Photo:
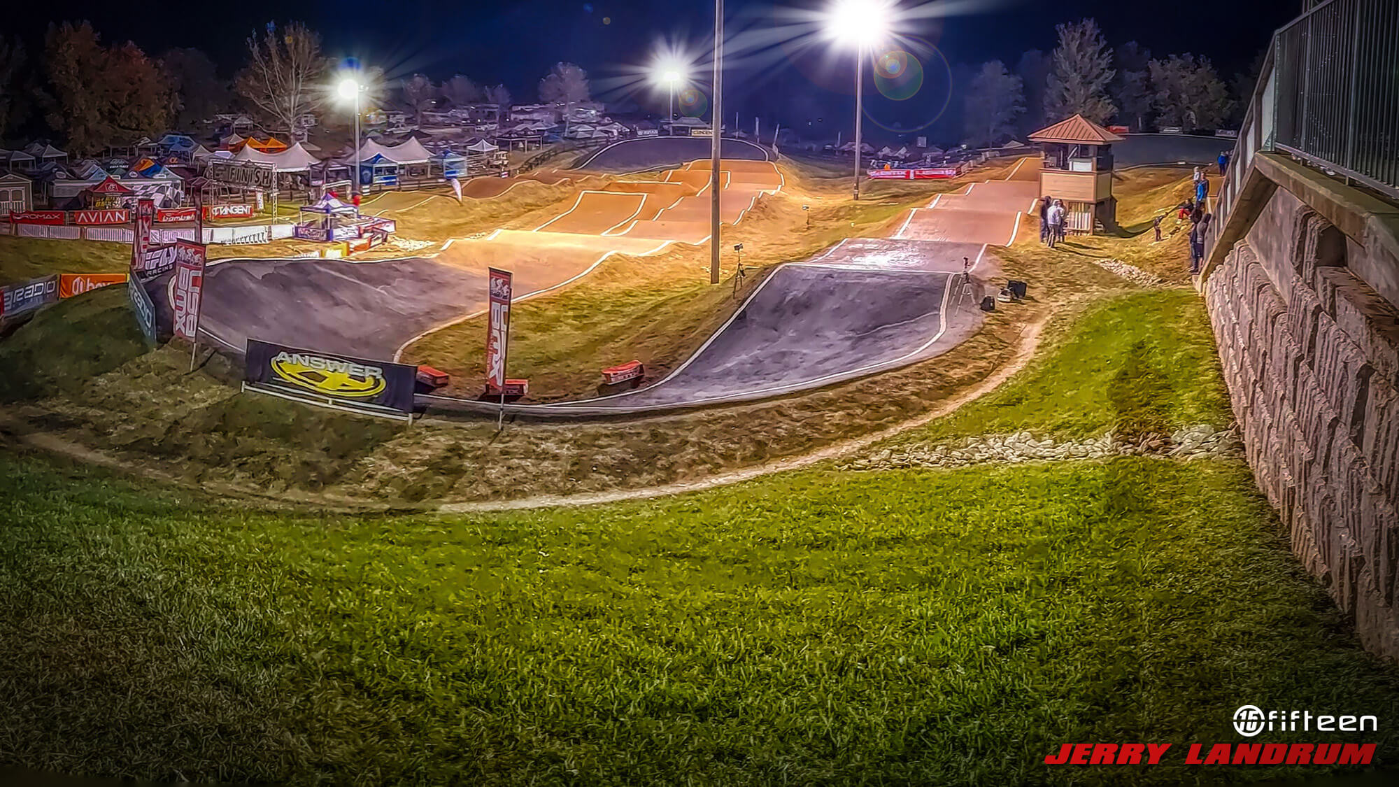
[(1115, 71), (1112, 49), (1098, 29), (1098, 22), (1083, 20), (1058, 25), (1059, 46), (1053, 50), (1053, 70), (1045, 95), (1045, 116), (1049, 122), (1079, 113), (1102, 123), (1116, 112), (1108, 98), (1108, 85)]

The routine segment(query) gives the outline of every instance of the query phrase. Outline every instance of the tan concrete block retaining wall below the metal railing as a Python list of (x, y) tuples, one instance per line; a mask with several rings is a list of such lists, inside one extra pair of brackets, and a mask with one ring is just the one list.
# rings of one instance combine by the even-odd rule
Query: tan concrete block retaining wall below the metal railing
[[(1364, 646), (1399, 658), (1399, 309), (1279, 189), (1205, 297), (1259, 487)], [(1363, 263), (1363, 265), (1356, 265)]]

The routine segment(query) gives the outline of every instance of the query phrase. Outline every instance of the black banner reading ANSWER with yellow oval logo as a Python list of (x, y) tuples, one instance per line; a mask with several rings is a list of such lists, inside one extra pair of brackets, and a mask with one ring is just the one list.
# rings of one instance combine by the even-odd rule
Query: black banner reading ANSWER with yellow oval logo
[(413, 412), (417, 367), (248, 340), (248, 382), (362, 412)]

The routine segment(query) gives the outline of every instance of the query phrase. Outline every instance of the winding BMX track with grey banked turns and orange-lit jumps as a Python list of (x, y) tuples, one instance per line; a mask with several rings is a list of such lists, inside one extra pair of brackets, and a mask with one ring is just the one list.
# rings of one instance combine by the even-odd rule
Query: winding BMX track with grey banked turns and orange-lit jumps
[[(983, 281), (996, 273), (986, 248), (1009, 245), (1034, 202), (1035, 172), (1020, 169), (1031, 168), (940, 195), (902, 217), (887, 238), (848, 238), (778, 266), (688, 360), (656, 382), (611, 396), (505, 409), (581, 417), (754, 401), (937, 356), (981, 328)], [(727, 224), (783, 186), (769, 161), (725, 160), (720, 175)], [(613, 181), (579, 192), (534, 230), (452, 239), (431, 256), (220, 260), (206, 273), (200, 335), (232, 354), (241, 354), (248, 339), (262, 339), (397, 358), (418, 337), (485, 308), (487, 267), (512, 270), (515, 300), (522, 300), (572, 283), (614, 253), (645, 256), (676, 242), (708, 241), (708, 161), (672, 168), (655, 181)], [(439, 412), (498, 409), (436, 395), (420, 395), (418, 402)]]

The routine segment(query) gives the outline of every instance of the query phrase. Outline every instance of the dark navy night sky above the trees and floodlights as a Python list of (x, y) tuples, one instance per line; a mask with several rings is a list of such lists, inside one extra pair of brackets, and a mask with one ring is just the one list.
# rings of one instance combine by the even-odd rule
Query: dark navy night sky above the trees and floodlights
[[(1137, 3), (1132, 0), (942, 0), (943, 7), (982, 8), (911, 25), (911, 32), (940, 52), (915, 45), (923, 63), (919, 94), (890, 101), (869, 90), (876, 125), (908, 129), (937, 113), (946, 94), (946, 67), (1000, 59), (1014, 67), (1027, 49), (1049, 50), (1055, 24), (1094, 17), (1108, 42), (1137, 41), (1153, 55), (1193, 52), (1214, 60), (1227, 81), (1247, 69), (1269, 34), (1300, 13), (1301, 0), (1214, 3)], [(726, 118), (737, 109), (765, 123), (832, 115), (848, 120), (852, 92), (851, 55), (809, 41), (809, 46), (769, 43), (762, 31), (789, 24), (783, 10), (818, 8), (824, 3), (729, 0), (726, 18), (736, 67), (726, 71)], [(50, 15), (59, 13), (60, 15)], [(665, 95), (639, 83), (639, 71), (665, 41), (688, 45), (701, 59), (709, 48), (713, 4), (700, 0), (523, 0), (501, 3), (368, 1), (278, 4), (166, 4), (158, 13), (132, 13), (133, 6), (67, 0), (62, 4), (22, 3), (7, 8), (4, 32), (20, 34), (36, 53), (50, 21), (90, 20), (104, 39), (134, 41), (151, 55), (169, 46), (207, 52), (225, 76), (242, 63), (243, 39), (267, 21), (301, 20), (318, 29), (327, 53), (357, 55), (379, 64), (390, 77), (422, 71), (442, 80), (464, 73), (478, 83), (505, 83), (516, 102), (533, 101), (544, 71), (557, 60), (588, 70), (595, 95), (632, 98), (646, 108), (665, 106)], [(744, 32), (748, 31), (748, 32)], [(706, 69), (706, 66), (701, 66)], [(939, 74), (942, 74), (939, 77)], [(708, 81), (708, 76), (704, 77)], [(658, 104), (659, 102), (659, 104)]]

